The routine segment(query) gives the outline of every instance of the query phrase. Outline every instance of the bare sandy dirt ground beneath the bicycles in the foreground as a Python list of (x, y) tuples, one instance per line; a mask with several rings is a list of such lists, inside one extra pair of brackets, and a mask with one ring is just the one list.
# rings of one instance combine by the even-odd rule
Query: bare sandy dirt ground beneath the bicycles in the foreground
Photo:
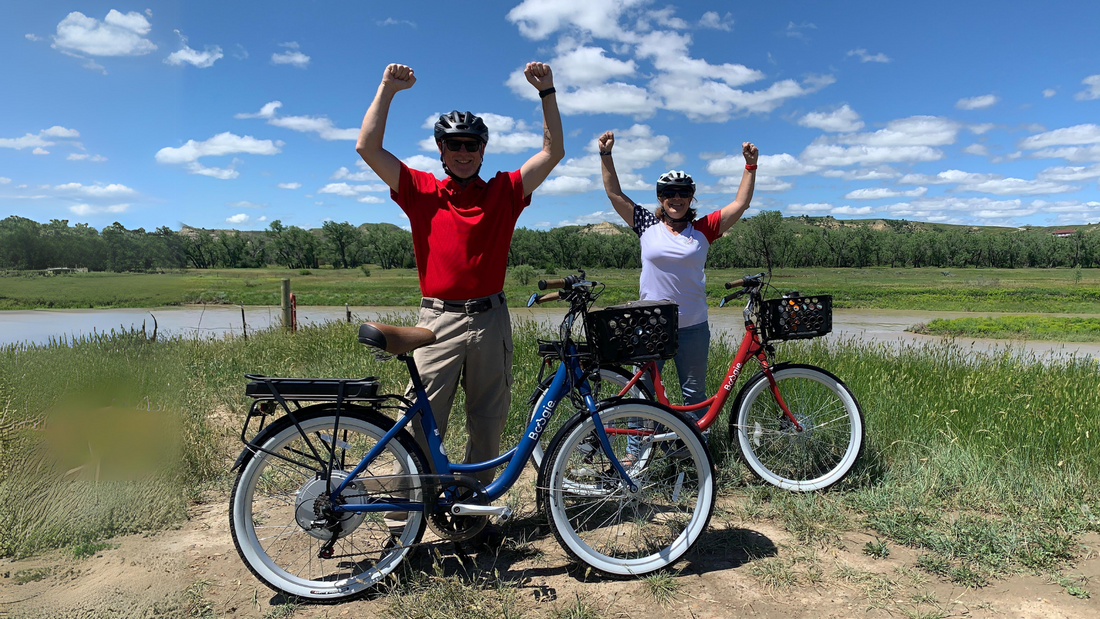
[[(730, 501), (736, 498), (724, 507)], [(311, 619), (439, 612), (438, 607), (398, 604), (399, 594), (393, 593), (334, 606), (292, 604), (256, 581), (238, 557), (227, 511), (226, 497), (210, 497), (177, 530), (117, 538), (110, 540), (112, 548), (88, 559), (58, 551), (0, 562), (0, 617)], [(1016, 575), (963, 588), (917, 570), (919, 553), (910, 549), (891, 544), (889, 556), (871, 559), (862, 549), (875, 538), (864, 532), (849, 531), (839, 548), (807, 548), (776, 522), (747, 522), (732, 516), (736, 512), (716, 510), (666, 585), (663, 604), (654, 598), (652, 583), (602, 579), (571, 565), (529, 512), (506, 529), (510, 540), (504, 549), (470, 555), (475, 566), (464, 567), (449, 543), (428, 546), (442, 559), (435, 567), (435, 553), (424, 551), (409, 565), (437, 581), (495, 575), (510, 583), (514, 608), (535, 617), (1100, 617), (1100, 535), (1085, 539), (1077, 563), (1063, 570), (1096, 592), (1082, 599), (1046, 576)], [(492, 594), (493, 587), (486, 590)]]

